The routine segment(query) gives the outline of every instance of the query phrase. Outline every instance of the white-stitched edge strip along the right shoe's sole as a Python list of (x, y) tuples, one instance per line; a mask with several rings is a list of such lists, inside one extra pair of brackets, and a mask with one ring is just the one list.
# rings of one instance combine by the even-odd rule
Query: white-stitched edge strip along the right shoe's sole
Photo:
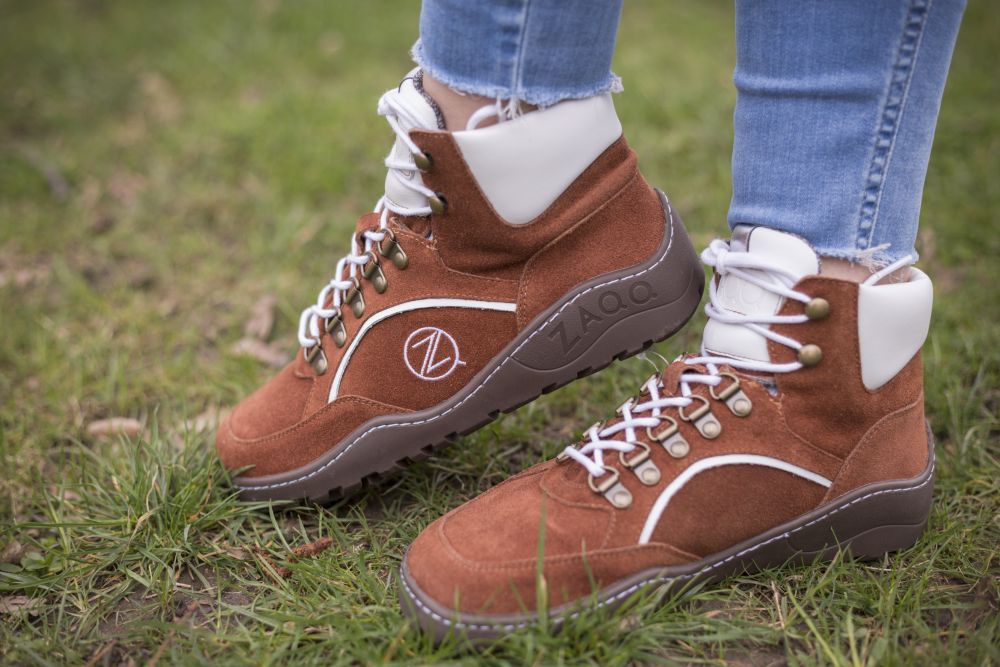
[[(831, 510), (829, 512), (826, 512), (824, 514), (819, 515), (818, 517), (816, 517), (815, 519), (813, 519), (812, 521), (810, 521), (808, 523), (802, 524), (801, 526), (798, 526), (798, 527), (793, 528), (791, 530), (785, 531), (784, 533), (781, 533), (780, 535), (775, 535), (774, 537), (772, 537), (772, 538), (770, 538), (768, 540), (765, 540), (765, 541), (761, 542), (760, 544), (755, 544), (753, 546), (747, 547), (746, 549), (743, 549), (742, 551), (739, 551), (739, 552), (734, 553), (734, 554), (732, 554), (730, 556), (727, 556), (726, 558), (718, 561), (717, 563), (712, 563), (711, 565), (706, 565), (705, 567), (703, 567), (703, 568), (701, 568), (699, 570), (696, 570), (695, 572), (690, 572), (688, 574), (683, 574), (683, 575), (679, 575), (679, 576), (676, 576), (676, 577), (660, 576), (660, 577), (654, 577), (652, 579), (647, 579), (646, 581), (640, 581), (639, 583), (633, 584), (632, 586), (629, 586), (625, 590), (623, 590), (623, 591), (621, 591), (619, 593), (616, 593), (615, 595), (611, 596), (610, 598), (608, 598), (606, 600), (599, 600), (597, 602), (596, 607), (598, 609), (601, 608), (601, 607), (606, 607), (609, 604), (611, 604), (612, 602), (617, 602), (618, 600), (621, 600), (623, 598), (626, 598), (626, 597), (632, 595), (633, 593), (635, 593), (636, 591), (638, 591), (640, 588), (646, 588), (646, 587), (649, 587), (649, 586), (654, 586), (654, 585), (657, 585), (657, 584), (665, 584), (665, 583), (670, 583), (670, 582), (674, 582), (674, 581), (685, 581), (687, 579), (692, 579), (692, 578), (697, 577), (698, 575), (704, 574), (706, 572), (711, 572), (712, 570), (714, 570), (714, 569), (716, 569), (718, 567), (721, 567), (722, 565), (725, 565), (726, 563), (728, 563), (729, 561), (731, 561), (733, 559), (740, 558), (741, 556), (745, 556), (748, 553), (752, 553), (752, 552), (760, 549), (761, 547), (767, 546), (768, 544), (770, 544), (770, 543), (772, 543), (772, 542), (774, 542), (776, 540), (786, 539), (786, 538), (794, 535), (795, 533), (799, 532), (800, 530), (805, 530), (806, 528), (819, 523), (823, 519), (826, 519), (827, 517), (833, 516), (837, 512), (840, 512), (841, 510), (845, 510), (848, 507), (850, 507), (851, 505), (859, 503), (862, 500), (867, 500), (868, 498), (873, 498), (875, 496), (881, 496), (881, 495), (884, 495), (884, 494), (887, 494), (887, 493), (902, 493), (902, 492), (906, 492), (906, 491), (917, 491), (919, 489), (922, 489), (923, 487), (927, 486), (928, 484), (930, 484), (931, 482), (934, 481), (934, 468), (935, 468), (935, 465), (936, 465), (936, 460), (933, 458), (933, 453), (931, 454), (931, 456), (932, 456), (932, 459), (931, 459), (930, 473), (927, 475), (927, 479), (925, 479), (923, 482), (921, 482), (917, 486), (910, 486), (910, 487), (905, 487), (905, 488), (901, 488), (901, 489), (883, 489), (881, 491), (873, 491), (871, 493), (865, 494), (865, 495), (861, 496), (860, 498), (855, 498), (854, 500), (852, 500), (851, 502), (847, 503), (846, 505), (841, 505), (839, 507), (834, 508), (833, 510)], [(400, 576), (399, 580), (403, 584), (403, 587), (406, 589), (407, 596), (410, 598), (410, 600), (414, 604), (416, 604), (418, 607), (420, 607), (420, 609), (422, 609), (425, 613), (427, 613), (429, 616), (431, 616), (434, 620), (438, 621), (439, 623), (443, 623), (444, 625), (453, 626), (455, 628), (459, 628), (459, 629), (463, 629), (463, 630), (505, 630), (505, 631), (509, 632), (511, 630), (519, 630), (521, 628), (526, 628), (526, 627), (528, 627), (530, 625), (535, 625), (537, 623), (537, 621), (523, 621), (521, 623), (465, 623), (463, 621), (453, 621), (453, 620), (451, 620), (449, 618), (446, 618), (446, 617), (442, 616), (441, 614), (438, 614), (437, 612), (435, 612), (434, 610), (432, 610), (430, 607), (428, 607), (426, 604), (424, 604), (419, 598), (417, 598), (416, 594), (413, 592), (413, 589), (410, 588), (410, 585), (408, 583), (406, 583), (406, 578), (405, 577)], [(572, 612), (570, 614), (567, 614), (567, 615), (564, 615), (564, 616), (554, 616), (554, 617), (552, 617), (551, 620), (553, 622), (556, 622), (556, 623), (562, 623), (562, 622), (564, 622), (566, 620), (571, 620), (571, 619), (577, 618), (581, 613), (584, 613), (586, 611), (591, 611), (591, 609), (588, 608), (588, 609), (577, 610), (577, 611), (574, 611), (574, 612)]]

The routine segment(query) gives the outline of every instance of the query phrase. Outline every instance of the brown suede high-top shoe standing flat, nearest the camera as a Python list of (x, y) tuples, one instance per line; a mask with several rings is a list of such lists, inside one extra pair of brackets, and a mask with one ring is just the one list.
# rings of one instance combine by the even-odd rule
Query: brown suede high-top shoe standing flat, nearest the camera
[[(934, 470), (927, 276), (906, 262), (862, 284), (818, 275), (805, 241), (763, 227), (702, 256), (716, 279), (701, 354), (428, 526), (401, 568), (421, 626), (495, 637), (536, 622), (539, 600), (557, 626), (652, 586), (918, 538)], [(910, 273), (880, 283), (891, 270)]]

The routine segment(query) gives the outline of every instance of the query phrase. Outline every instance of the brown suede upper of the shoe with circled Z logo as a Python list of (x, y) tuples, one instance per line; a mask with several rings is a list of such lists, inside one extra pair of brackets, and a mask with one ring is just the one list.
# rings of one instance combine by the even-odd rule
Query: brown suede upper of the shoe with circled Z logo
[[(326, 333), (320, 338), (326, 372), (317, 375), (297, 350), (288, 367), (240, 403), (219, 428), (216, 447), (223, 462), (231, 469), (252, 466), (246, 477), (305, 465), (374, 416), (440, 404), (567, 290), (648, 260), (662, 238), (659, 199), (623, 138), (536, 220), (513, 226), (483, 196), (449, 133), (420, 130), (411, 137), (433, 155), (424, 181), (444, 194), (447, 209), (427, 217), (390, 218), (408, 266), (399, 269), (380, 258), (388, 283), (382, 294), (361, 279), (364, 313), (355, 317), (349, 307), (341, 308), (348, 345), (337, 347)], [(356, 236), (378, 225), (378, 214), (361, 216)], [(617, 243), (620, 239), (629, 241)], [(354, 347), (337, 398), (329, 403), (337, 369), (365, 323), (387, 308), (426, 298), (498, 301), (512, 304), (516, 312), (433, 308), (386, 317)], [(446, 377), (414, 375), (404, 347), (421, 327), (447, 331), (464, 363)], [(450, 343), (443, 344), (441, 354), (432, 355), (435, 364), (447, 357)]]

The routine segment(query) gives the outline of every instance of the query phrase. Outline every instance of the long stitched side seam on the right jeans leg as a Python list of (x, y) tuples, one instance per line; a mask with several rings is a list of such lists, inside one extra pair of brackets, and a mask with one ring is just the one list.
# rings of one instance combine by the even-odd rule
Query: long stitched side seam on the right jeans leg
[(871, 246), (878, 223), (882, 193), (892, 161), (893, 148), (903, 112), (909, 97), (913, 71), (923, 42), (924, 27), (933, 0), (912, 0), (903, 20), (903, 34), (896, 49), (896, 57), (889, 73), (885, 98), (875, 127), (874, 145), (865, 188), (858, 215), (858, 232), (855, 245), (859, 250)]

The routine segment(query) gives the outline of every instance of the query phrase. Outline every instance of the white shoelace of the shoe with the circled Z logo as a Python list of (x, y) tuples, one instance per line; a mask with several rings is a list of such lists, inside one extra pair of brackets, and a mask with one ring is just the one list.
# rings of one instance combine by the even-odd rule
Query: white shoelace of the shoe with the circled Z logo
[[(406, 127), (420, 127), (420, 114), (408, 105), (395, 88), (382, 95), (381, 99), (379, 99), (378, 114), (385, 116), (386, 121), (389, 122), (389, 127), (396, 133), (400, 141), (410, 149), (411, 154), (408, 160), (393, 159), (392, 153), (389, 154), (389, 157), (385, 159), (385, 166), (389, 170), (390, 178), (394, 178), (399, 185), (418, 192), (427, 199), (433, 197), (433, 190), (422, 183), (415, 182), (413, 179), (417, 167), (413, 163), (412, 155), (421, 151), (420, 147), (410, 139), (409, 133), (404, 129), (404, 125)], [(402, 206), (383, 195), (379, 198), (378, 203), (375, 204), (375, 212), (382, 214), (379, 218), (379, 228), (362, 233), (362, 244), (358, 243), (357, 234), (351, 236), (350, 254), (345, 255), (337, 262), (333, 279), (320, 290), (316, 303), (302, 311), (302, 315), (299, 317), (299, 345), (304, 349), (308, 350), (318, 344), (320, 322), (333, 317), (339, 312), (344, 295), (354, 286), (352, 278), (356, 278), (361, 267), (367, 263), (368, 253), (372, 252), (376, 244), (385, 239), (386, 230), (389, 227), (389, 214), (423, 216), (430, 215), (431, 209), (429, 205), (417, 207)], [(346, 276), (345, 270), (347, 272)], [(331, 292), (333, 293), (333, 300), (330, 307), (327, 308), (326, 303)]]

